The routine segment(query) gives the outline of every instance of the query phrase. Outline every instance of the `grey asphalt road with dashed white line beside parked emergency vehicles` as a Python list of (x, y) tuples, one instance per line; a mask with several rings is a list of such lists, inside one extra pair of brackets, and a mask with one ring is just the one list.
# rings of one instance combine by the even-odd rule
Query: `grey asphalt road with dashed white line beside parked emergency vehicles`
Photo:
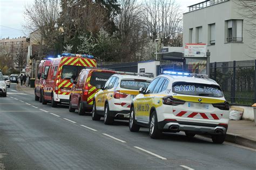
[(156, 140), (148, 133), (42, 105), (15, 84), (0, 97), (0, 169), (256, 168), (255, 150), (183, 133)]

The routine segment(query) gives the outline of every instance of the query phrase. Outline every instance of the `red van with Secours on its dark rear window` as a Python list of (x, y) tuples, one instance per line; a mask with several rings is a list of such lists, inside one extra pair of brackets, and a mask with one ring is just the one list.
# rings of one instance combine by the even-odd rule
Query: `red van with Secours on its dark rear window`
[(71, 88), (69, 111), (78, 109), (79, 115), (91, 112), (93, 97), (114, 73), (112, 70), (97, 68), (81, 70), (75, 82), (72, 80), (74, 85)]

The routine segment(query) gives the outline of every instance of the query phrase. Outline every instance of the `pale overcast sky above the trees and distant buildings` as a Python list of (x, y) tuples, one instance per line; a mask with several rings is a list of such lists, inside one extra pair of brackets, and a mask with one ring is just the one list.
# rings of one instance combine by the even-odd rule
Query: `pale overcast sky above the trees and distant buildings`
[[(33, 3), (34, 0), (0, 0), (0, 39), (10, 37), (28, 36), (28, 31), (24, 30), (24, 10), (25, 6)], [(187, 6), (203, 2), (204, 0), (176, 0), (183, 12), (187, 11)]]

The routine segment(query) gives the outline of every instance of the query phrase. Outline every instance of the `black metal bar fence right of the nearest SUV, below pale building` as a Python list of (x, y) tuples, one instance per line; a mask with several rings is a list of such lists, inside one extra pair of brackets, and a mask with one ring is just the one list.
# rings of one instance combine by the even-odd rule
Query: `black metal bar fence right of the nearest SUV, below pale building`
[(211, 79), (220, 84), (228, 102), (256, 103), (256, 60), (211, 63)]

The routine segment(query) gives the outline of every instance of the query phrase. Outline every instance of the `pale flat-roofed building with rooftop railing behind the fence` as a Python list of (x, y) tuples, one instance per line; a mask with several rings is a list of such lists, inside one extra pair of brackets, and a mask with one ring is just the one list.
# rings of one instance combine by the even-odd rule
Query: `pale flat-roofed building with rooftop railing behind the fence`
[(256, 59), (256, 43), (247, 30), (255, 29), (242, 17), (238, 0), (206, 0), (188, 6), (183, 14), (183, 46), (185, 43), (205, 43), (211, 62)]

